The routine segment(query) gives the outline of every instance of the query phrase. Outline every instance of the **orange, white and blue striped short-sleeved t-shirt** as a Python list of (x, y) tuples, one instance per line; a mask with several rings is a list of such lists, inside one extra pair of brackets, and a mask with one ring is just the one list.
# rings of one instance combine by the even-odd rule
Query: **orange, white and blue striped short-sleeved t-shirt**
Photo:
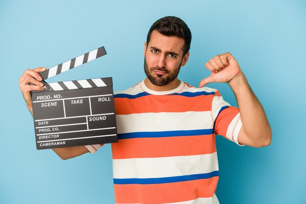
[[(238, 108), (218, 90), (187, 83), (157, 92), (139, 82), (114, 95), (117, 204), (218, 204), (215, 134), (238, 143)], [(88, 145), (93, 153), (102, 145)]]

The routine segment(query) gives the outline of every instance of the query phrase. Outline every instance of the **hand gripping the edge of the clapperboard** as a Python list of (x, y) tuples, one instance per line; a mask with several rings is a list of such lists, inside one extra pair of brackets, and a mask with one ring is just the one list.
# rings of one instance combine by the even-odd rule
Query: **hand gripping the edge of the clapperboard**
[[(41, 82), (43, 78), (39, 72), (45, 71), (45, 67), (35, 68), (33, 70), (27, 69), (19, 79), (19, 87), (22, 92), (23, 99), (26, 103), (27, 108), (33, 114), (32, 111), (32, 100), (31, 91), (42, 91), (44, 90), (44, 84)], [(30, 85), (32, 83), (33, 85)]]

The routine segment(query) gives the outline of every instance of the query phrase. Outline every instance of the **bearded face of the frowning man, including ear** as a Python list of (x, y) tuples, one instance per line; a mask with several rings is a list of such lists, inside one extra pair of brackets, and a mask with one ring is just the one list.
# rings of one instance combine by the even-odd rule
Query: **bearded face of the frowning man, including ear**
[(175, 83), (181, 66), (188, 60), (189, 52), (183, 56), (185, 41), (178, 37), (167, 37), (157, 31), (151, 34), (149, 44), (145, 42), (145, 73), (156, 86)]

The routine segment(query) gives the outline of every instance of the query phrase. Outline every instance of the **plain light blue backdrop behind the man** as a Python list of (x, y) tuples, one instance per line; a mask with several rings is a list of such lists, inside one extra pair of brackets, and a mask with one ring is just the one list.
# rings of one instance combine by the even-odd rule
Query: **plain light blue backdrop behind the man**
[[(111, 76), (115, 91), (126, 89), (145, 77), (151, 24), (172, 15), (193, 34), (179, 79), (197, 86), (209, 75), (205, 62), (230, 51), (272, 127), (264, 148), (217, 137), (220, 203), (305, 203), (305, 0), (0, 0), (0, 204), (114, 203), (110, 145), (67, 161), (36, 150), (19, 78), (105, 46), (108, 55), (47, 82)], [(227, 84), (209, 86), (237, 105)]]

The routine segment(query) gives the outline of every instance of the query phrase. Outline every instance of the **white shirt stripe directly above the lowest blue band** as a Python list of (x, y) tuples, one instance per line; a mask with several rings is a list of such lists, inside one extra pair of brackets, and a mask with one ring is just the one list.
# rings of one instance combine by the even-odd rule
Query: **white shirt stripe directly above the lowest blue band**
[(112, 163), (115, 179), (173, 177), (219, 170), (217, 152), (191, 156), (113, 159)]

